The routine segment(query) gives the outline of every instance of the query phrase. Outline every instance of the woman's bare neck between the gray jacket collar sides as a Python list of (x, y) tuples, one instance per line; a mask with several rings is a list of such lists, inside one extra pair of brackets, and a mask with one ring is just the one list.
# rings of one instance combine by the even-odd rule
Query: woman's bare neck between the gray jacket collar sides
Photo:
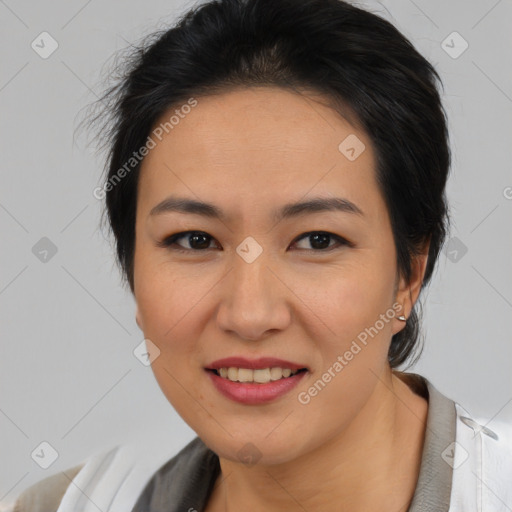
[(418, 480), (427, 401), (389, 367), (339, 435), (293, 461), (246, 467), (220, 458), (209, 511), (407, 510)]

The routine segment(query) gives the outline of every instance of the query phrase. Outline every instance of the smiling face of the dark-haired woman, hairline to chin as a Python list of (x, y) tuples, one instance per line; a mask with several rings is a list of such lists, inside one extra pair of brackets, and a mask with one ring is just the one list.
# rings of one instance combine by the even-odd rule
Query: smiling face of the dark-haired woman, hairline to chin
[[(375, 154), (339, 114), (278, 88), (177, 110), (141, 167), (137, 322), (162, 391), (211, 449), (231, 460), (291, 461), (362, 410), (404, 326)], [(153, 210), (171, 197), (214, 209)], [(318, 199), (339, 208), (289, 207)], [(187, 231), (200, 233), (162, 244)], [(249, 362), (215, 364), (231, 357)], [(245, 370), (226, 378), (214, 366)], [(306, 370), (265, 370), (278, 367)]]

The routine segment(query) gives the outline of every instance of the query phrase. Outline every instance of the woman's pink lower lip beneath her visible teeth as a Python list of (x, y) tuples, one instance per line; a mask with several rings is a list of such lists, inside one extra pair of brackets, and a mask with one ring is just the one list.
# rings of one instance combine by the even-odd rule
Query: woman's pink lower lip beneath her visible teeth
[[(224, 364), (225, 360), (222, 361), (222, 364)], [(254, 362), (254, 364), (260, 365), (258, 368), (262, 367), (260, 361), (261, 360), (258, 360), (257, 363)], [(244, 366), (245, 364), (246, 363), (243, 365), (237, 363), (237, 366), (241, 368), (247, 368), (247, 366)], [(273, 363), (271, 365), (268, 363), (265, 364), (266, 366), (263, 366), (263, 368), (272, 367)], [(230, 363), (230, 366), (235, 365)], [(274, 366), (281, 366), (281, 364), (276, 364)], [(289, 368), (289, 366), (286, 367)], [(220, 366), (220, 368), (225, 368), (225, 366)], [(225, 397), (242, 404), (257, 405), (276, 400), (277, 398), (285, 395), (291, 389), (293, 389), (308, 372), (299, 372), (295, 375), (291, 375), (290, 377), (270, 381), (266, 384), (258, 384), (253, 382), (232, 382), (229, 379), (220, 377), (212, 370), (206, 370), (206, 373), (212, 380), (217, 390)]]

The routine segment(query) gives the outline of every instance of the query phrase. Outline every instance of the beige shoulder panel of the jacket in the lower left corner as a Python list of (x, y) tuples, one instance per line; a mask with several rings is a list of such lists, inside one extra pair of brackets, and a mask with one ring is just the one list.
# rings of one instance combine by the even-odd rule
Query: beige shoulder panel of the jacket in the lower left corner
[(17, 498), (13, 512), (53, 512), (85, 462), (39, 480)]

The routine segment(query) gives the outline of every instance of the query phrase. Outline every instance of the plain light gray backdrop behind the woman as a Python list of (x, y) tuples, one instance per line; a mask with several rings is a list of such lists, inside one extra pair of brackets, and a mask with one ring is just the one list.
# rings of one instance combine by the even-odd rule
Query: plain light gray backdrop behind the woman
[[(0, 0), (0, 510), (103, 447), (140, 438), (171, 456), (195, 435), (133, 355), (143, 336), (92, 195), (102, 161), (73, 140), (113, 52), (192, 5)], [(473, 414), (512, 421), (512, 1), (362, 5), (436, 66), (450, 117), (454, 239), (423, 297), (412, 371)], [(43, 31), (59, 45), (47, 59), (31, 47)], [(457, 58), (454, 31), (469, 44)], [(57, 248), (46, 262), (43, 237)], [(43, 441), (58, 452), (48, 469), (31, 458)]]

